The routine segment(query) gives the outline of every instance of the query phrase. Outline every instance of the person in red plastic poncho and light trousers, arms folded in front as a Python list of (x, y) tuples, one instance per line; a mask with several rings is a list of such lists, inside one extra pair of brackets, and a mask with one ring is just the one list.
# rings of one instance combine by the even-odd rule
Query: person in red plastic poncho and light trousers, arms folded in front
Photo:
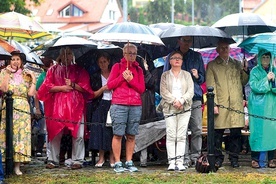
[[(38, 90), (38, 99), (45, 104), (50, 154), (46, 168), (59, 165), (60, 141), (65, 127), (71, 131), (72, 169), (82, 167), (85, 156), (84, 114), (87, 99), (94, 96), (88, 72), (74, 64), (74, 53), (62, 48), (46, 79)], [(48, 117), (48, 118), (47, 118)]]

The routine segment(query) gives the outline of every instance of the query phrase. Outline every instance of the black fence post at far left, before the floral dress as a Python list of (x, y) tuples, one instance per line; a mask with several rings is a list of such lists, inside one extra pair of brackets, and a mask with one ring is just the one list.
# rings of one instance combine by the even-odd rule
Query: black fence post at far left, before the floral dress
[(13, 174), (13, 98), (8, 91), (6, 98), (6, 175)]

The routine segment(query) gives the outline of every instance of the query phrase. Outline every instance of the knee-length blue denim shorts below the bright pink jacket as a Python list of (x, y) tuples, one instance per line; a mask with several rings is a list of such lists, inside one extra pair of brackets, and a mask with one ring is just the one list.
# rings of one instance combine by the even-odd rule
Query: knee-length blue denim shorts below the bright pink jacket
[(141, 114), (142, 106), (112, 104), (110, 107), (110, 116), (113, 134), (118, 136), (125, 134), (137, 135)]

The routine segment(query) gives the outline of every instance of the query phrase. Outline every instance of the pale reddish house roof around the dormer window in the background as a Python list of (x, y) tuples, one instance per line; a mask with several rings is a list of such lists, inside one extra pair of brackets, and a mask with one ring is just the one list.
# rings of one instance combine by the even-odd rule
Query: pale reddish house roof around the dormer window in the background
[[(33, 5), (26, 0), (27, 7), (33, 12), (35, 17), (39, 18), (42, 25), (60, 25), (60, 30), (85, 30), (95, 32), (110, 23), (102, 23), (102, 15), (109, 3), (109, 0), (44, 0), (38, 6)], [(83, 15), (80, 17), (68, 16), (62, 17), (59, 12), (68, 5), (73, 4), (79, 8)], [(117, 0), (120, 11), (121, 4)], [(121, 19), (119, 19), (121, 20)]]

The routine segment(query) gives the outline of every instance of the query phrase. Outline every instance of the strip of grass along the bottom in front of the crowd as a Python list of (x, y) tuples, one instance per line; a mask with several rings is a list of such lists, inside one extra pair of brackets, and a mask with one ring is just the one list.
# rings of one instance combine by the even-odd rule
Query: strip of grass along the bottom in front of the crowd
[[(34, 168), (35, 169), (35, 168)], [(190, 172), (167, 172), (163, 169), (150, 170), (149, 172), (121, 173), (115, 174), (109, 170), (81, 169), (81, 170), (64, 170), (56, 169), (49, 172), (37, 168), (37, 172), (23, 174), (22, 176), (12, 175), (6, 179), (9, 184), (35, 183), (35, 184), (154, 184), (154, 183), (276, 183), (276, 171), (269, 172), (250, 172), (236, 169), (234, 172), (225, 172), (223, 170), (217, 173), (200, 174), (195, 171)], [(272, 172), (271, 172), (272, 171)]]

